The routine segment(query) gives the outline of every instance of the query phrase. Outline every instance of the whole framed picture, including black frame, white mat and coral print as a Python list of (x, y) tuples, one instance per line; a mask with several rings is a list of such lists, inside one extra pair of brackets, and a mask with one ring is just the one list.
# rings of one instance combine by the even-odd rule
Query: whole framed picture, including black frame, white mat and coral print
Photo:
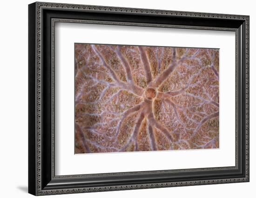
[(249, 182), (249, 16), (28, 6), (33, 195)]

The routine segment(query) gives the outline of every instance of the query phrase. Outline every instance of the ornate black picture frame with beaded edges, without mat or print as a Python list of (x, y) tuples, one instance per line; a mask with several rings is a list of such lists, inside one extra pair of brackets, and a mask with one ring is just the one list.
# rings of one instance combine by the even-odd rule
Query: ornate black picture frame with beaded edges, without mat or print
[[(236, 166), (55, 176), (55, 22), (234, 31)], [(35, 2), (28, 6), (28, 25), (29, 193), (48, 195), (249, 182), (249, 16)]]

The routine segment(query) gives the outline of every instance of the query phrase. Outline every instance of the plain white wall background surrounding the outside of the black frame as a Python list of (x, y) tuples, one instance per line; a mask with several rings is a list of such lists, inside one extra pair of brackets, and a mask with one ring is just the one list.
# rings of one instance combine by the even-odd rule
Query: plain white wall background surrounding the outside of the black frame
[[(54, 2), (52, 0), (48, 0)], [(58, 0), (56, 0), (58, 1)], [(27, 4), (30, 0), (1, 2), (0, 31), (0, 186), (1, 197), (32, 197), (27, 194)], [(255, 197), (256, 186), (256, 13), (252, 0), (61, 0), (119, 7), (250, 15), (250, 182), (162, 189), (112, 191), (55, 197)], [(229, 119), (229, 118), (226, 118)], [(53, 196), (49, 196), (53, 197)]]

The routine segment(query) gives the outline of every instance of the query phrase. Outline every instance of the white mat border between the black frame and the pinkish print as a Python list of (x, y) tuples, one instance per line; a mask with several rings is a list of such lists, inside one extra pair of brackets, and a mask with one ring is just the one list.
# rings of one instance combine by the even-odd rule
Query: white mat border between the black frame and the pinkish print
[[(57, 23), (55, 38), (56, 175), (235, 166), (234, 32)], [(74, 95), (70, 93), (74, 93), (77, 42), (220, 48), (220, 148), (74, 155)]]

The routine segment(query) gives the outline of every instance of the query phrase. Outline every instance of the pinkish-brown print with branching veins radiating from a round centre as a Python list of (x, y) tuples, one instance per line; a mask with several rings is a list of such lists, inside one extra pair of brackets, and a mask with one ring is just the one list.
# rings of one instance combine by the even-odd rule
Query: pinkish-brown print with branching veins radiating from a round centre
[(75, 153), (219, 147), (219, 50), (75, 43)]

